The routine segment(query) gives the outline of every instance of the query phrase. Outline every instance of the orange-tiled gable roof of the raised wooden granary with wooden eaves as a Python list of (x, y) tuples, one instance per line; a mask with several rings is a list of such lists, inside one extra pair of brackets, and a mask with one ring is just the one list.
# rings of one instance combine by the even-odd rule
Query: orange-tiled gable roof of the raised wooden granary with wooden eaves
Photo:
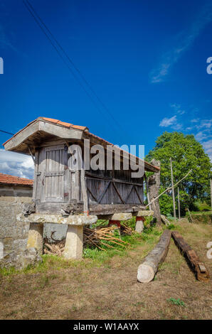
[[(53, 136), (67, 140), (89, 138), (90, 141), (95, 144), (114, 146), (109, 141), (92, 134), (87, 126), (74, 125), (48, 117), (38, 117), (14, 134), (14, 136), (3, 145), (6, 150), (29, 154), (28, 147), (30, 147), (33, 152), (33, 147), (36, 146), (36, 144), (46, 139), (50, 140)], [(130, 155), (132, 156), (132, 154)], [(141, 159), (137, 158), (137, 160)], [(144, 166), (146, 171), (158, 172), (160, 170), (159, 167), (153, 166), (151, 163), (147, 163), (147, 161), (145, 161)]]

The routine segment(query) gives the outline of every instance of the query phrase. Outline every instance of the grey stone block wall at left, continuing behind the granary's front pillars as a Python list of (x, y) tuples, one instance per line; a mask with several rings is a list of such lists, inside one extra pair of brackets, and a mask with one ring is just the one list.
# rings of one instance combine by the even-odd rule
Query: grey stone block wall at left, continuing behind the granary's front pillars
[[(0, 267), (15, 266), (19, 269), (23, 256), (26, 256), (29, 224), (18, 222), (16, 215), (23, 211), (24, 204), (32, 203), (31, 196), (31, 187), (0, 185)], [(43, 237), (47, 237), (49, 242), (53, 242), (52, 232), (54, 239), (63, 239), (67, 225), (45, 224)]]

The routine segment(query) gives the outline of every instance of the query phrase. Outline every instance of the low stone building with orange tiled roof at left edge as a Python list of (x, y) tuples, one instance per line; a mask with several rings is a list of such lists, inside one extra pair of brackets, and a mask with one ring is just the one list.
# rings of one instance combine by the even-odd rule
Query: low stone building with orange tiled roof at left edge
[(33, 180), (0, 173), (0, 266), (13, 265), (26, 249), (28, 224), (16, 215), (31, 203), (32, 193)]

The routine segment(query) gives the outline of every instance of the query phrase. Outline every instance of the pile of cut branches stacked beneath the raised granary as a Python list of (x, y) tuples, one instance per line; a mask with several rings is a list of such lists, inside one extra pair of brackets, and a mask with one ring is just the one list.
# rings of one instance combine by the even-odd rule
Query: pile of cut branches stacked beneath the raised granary
[[(100, 245), (104, 245), (105, 247), (116, 249), (114, 247), (116, 244), (121, 247), (126, 247), (128, 242), (125, 242), (124, 240), (120, 239), (119, 237), (115, 237), (114, 235), (115, 227), (109, 226), (109, 227), (96, 227), (95, 229), (90, 229), (88, 227), (84, 227), (83, 232), (83, 244), (89, 245), (89, 246), (95, 246), (99, 249), (106, 250)], [(127, 227), (125, 225), (122, 225), (122, 233), (124, 234), (132, 234), (132, 229), (130, 227)], [(108, 244), (107, 242), (110, 242)], [(112, 246), (114, 244), (114, 246)]]

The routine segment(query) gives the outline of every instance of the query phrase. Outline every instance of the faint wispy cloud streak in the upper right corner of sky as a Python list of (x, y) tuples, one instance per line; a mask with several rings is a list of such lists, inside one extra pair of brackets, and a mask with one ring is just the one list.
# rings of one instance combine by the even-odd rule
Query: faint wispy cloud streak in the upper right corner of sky
[(176, 41), (176, 45), (161, 56), (161, 62), (157, 68), (154, 68), (150, 72), (150, 82), (157, 83), (164, 81), (166, 75), (169, 74), (170, 68), (181, 58), (184, 52), (191, 47), (203, 28), (211, 21), (212, 3), (210, 2), (203, 6), (194, 23), (192, 23), (186, 31), (181, 31), (179, 36), (176, 36), (175, 39), (178, 40)]

